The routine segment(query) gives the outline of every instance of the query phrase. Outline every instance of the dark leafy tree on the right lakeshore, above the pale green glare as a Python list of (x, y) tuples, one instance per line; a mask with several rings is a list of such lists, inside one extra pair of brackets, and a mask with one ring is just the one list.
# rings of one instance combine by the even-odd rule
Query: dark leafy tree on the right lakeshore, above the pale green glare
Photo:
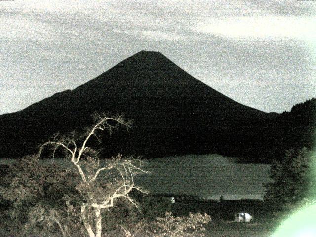
[(308, 197), (313, 185), (311, 173), (312, 153), (303, 148), (288, 150), (282, 161), (271, 165), (270, 177), (273, 182), (267, 188), (264, 201), (270, 211), (290, 211)]

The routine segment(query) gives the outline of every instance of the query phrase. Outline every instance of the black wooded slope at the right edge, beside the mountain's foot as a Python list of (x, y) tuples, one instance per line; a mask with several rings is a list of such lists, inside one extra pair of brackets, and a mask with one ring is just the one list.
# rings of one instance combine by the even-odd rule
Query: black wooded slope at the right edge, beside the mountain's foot
[(283, 159), (290, 149), (312, 150), (316, 141), (316, 98), (294, 105), (290, 112), (275, 114), (262, 125), (254, 136), (262, 139), (262, 149), (251, 147), (250, 156), (245, 154), (242, 161), (270, 163)]

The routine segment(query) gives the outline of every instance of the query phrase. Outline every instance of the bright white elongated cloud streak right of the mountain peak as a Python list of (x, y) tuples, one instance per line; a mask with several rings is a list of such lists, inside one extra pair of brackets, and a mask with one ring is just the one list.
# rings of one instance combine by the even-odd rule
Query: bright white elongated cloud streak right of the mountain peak
[(208, 19), (194, 31), (231, 38), (298, 38), (316, 39), (315, 17), (234, 17)]

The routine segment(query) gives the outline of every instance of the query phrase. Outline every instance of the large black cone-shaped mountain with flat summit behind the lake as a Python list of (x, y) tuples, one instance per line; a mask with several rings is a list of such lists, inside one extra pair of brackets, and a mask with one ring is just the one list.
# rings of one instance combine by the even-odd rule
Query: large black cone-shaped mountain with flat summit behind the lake
[(284, 130), (281, 115), (237, 103), (161, 53), (141, 51), (74, 90), (1, 115), (0, 157), (35, 153), (53, 134), (91, 125), (95, 112), (133, 120), (131, 131), (104, 137), (104, 156), (219, 153), (265, 161)]

